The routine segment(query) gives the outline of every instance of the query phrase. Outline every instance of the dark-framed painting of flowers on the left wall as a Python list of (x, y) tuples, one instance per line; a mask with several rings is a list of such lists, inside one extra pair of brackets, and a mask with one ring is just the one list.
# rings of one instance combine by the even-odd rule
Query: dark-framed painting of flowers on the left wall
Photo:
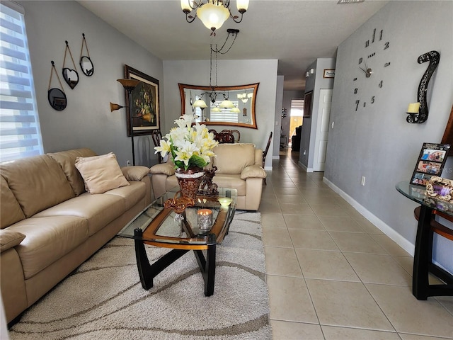
[[(125, 78), (140, 81), (132, 90), (132, 122), (130, 112), (126, 115), (127, 136), (130, 137), (131, 123), (134, 136), (151, 135), (154, 130), (160, 129), (159, 80), (128, 65), (125, 65)], [(127, 91), (126, 103), (129, 103)]]

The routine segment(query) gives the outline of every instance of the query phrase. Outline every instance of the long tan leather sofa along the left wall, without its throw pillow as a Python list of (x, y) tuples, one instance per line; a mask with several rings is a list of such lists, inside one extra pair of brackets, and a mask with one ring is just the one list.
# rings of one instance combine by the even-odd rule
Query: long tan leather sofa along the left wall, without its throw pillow
[(146, 166), (121, 169), (129, 185), (87, 193), (74, 162), (94, 155), (75, 149), (0, 164), (0, 283), (7, 322), (151, 203)]

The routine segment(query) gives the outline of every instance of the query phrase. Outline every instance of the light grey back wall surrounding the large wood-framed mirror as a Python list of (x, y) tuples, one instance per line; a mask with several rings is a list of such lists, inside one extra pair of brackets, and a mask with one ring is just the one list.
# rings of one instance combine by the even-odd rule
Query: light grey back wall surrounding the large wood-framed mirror
[[(206, 53), (209, 53), (209, 46), (206, 49)], [(241, 142), (253, 143), (264, 149), (270, 131), (274, 130), (277, 60), (218, 60), (217, 79), (219, 86), (260, 83), (256, 96), (258, 130), (242, 127), (237, 130), (241, 132)], [(166, 117), (163, 131), (168, 131), (181, 114), (178, 83), (209, 86), (210, 60), (165, 60), (164, 80)], [(211, 126), (216, 130), (224, 128)], [(269, 151), (271, 154), (272, 150)], [(266, 158), (265, 167), (269, 166), (272, 166), (272, 157)]]

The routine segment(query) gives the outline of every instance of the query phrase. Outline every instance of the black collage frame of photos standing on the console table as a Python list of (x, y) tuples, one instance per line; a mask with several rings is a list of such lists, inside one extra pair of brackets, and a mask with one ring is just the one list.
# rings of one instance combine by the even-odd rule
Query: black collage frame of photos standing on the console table
[(412, 174), (411, 184), (426, 186), (432, 176), (441, 176), (449, 149), (449, 144), (423, 143)]

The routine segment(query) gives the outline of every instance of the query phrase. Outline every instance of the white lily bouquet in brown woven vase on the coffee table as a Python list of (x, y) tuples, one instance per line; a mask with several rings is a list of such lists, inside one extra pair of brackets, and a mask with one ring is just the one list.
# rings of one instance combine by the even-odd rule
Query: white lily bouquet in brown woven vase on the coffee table
[[(192, 205), (195, 205), (198, 188), (205, 176), (203, 168), (210, 163), (210, 157), (215, 157), (212, 149), (218, 143), (206, 125), (195, 123), (195, 115), (182, 115), (175, 123), (176, 128), (172, 128), (160, 140), (159, 146), (154, 147), (154, 153), (160, 152), (163, 158), (166, 154), (171, 154), (181, 198), (193, 200)], [(173, 200), (178, 203), (176, 198)]]

